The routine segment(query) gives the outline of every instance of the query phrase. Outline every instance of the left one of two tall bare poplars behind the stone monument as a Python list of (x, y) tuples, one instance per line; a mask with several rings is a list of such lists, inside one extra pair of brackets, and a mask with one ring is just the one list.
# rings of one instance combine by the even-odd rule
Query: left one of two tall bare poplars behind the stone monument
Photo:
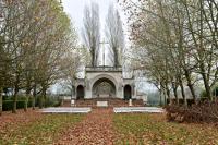
[(92, 55), (92, 65), (97, 65), (97, 59), (99, 56), (99, 43), (100, 43), (100, 22), (99, 22), (99, 7), (97, 3), (92, 2), (90, 7), (84, 9), (84, 27), (83, 39), (86, 47)]

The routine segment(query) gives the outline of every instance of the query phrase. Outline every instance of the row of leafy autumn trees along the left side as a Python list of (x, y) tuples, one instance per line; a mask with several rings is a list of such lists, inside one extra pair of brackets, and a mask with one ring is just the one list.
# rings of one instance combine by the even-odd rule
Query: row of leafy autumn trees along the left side
[(0, 106), (3, 88), (13, 88), (12, 112), (20, 90), (26, 94), (25, 110), (39, 94), (44, 107), (49, 86), (69, 76), (76, 38), (59, 1), (0, 0)]

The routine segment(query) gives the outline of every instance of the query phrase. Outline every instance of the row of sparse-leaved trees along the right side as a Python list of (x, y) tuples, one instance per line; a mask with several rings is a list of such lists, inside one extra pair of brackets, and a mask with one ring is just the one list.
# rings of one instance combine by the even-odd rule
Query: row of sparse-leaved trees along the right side
[(128, 15), (130, 56), (135, 69), (144, 71), (170, 99), (186, 105), (185, 88), (196, 102), (197, 85), (207, 99), (215, 99), (218, 82), (218, 1), (217, 0), (137, 0), (120, 1)]

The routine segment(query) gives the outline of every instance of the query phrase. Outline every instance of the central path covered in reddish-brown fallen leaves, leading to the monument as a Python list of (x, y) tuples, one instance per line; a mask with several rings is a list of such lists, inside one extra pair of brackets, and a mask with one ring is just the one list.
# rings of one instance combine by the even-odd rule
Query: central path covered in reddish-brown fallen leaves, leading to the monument
[(84, 121), (65, 131), (57, 145), (112, 145), (112, 109), (93, 109)]

